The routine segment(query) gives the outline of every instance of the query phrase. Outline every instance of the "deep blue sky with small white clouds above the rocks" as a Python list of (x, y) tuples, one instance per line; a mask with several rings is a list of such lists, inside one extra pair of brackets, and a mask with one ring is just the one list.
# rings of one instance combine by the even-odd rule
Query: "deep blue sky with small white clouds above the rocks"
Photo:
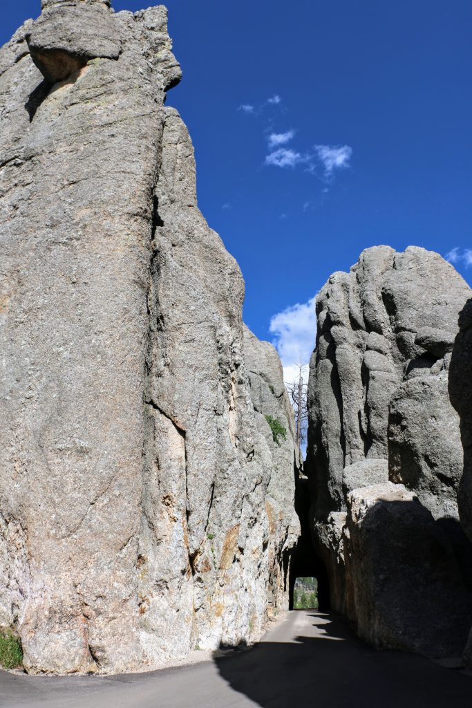
[[(0, 42), (39, 6), (6, 0)], [(313, 345), (313, 296), (367, 246), (451, 253), (471, 282), (470, 0), (167, 6), (200, 208), (286, 365)]]

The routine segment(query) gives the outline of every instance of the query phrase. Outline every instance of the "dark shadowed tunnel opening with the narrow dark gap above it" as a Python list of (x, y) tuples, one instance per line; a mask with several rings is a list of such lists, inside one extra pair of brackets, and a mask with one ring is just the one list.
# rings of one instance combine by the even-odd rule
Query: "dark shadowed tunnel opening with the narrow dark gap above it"
[(330, 608), (328, 573), (313, 547), (310, 532), (310, 492), (306, 476), (297, 479), (295, 510), (300, 520), (300, 537), (292, 551), (289, 566), (289, 609), (294, 609), (294, 587), (297, 578), (316, 578), (318, 581), (318, 608)]

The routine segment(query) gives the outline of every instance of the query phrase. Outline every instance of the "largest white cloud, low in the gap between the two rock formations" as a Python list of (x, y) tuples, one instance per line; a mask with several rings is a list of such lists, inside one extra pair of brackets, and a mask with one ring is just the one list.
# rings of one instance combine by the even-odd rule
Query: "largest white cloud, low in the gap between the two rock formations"
[(315, 346), (315, 298), (277, 312), (270, 319), (269, 331), (274, 335), (272, 343), (282, 360), (284, 379), (292, 382), (297, 378), (300, 363), (304, 365), (304, 372), (307, 372)]

